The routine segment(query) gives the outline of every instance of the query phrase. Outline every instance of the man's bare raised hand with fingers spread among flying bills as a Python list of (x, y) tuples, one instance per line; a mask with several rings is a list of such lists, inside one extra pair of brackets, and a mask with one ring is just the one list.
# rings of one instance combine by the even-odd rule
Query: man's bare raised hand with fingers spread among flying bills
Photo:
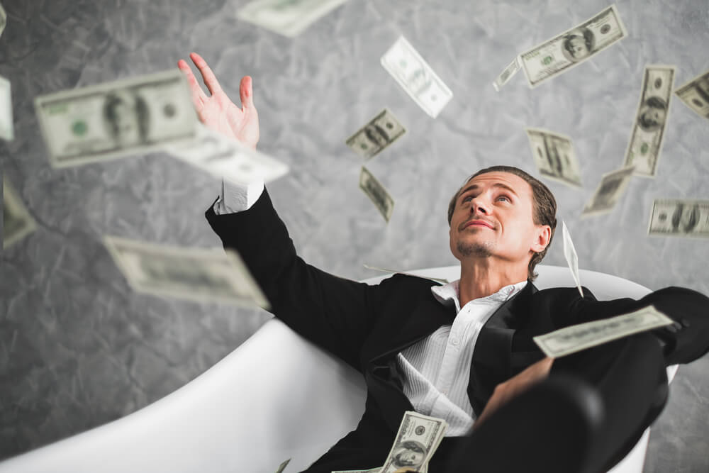
[(208, 128), (230, 138), (235, 138), (249, 148), (256, 149), (256, 143), (259, 141), (259, 115), (254, 106), (251, 77), (245, 76), (241, 79), (239, 87), (241, 108), (239, 108), (224, 93), (207, 62), (196, 52), (192, 52), (189, 57), (199, 69), (202, 80), (210, 93), (207, 96), (202, 90), (187, 62), (179, 60), (177, 67), (187, 77), (192, 102), (199, 119)]

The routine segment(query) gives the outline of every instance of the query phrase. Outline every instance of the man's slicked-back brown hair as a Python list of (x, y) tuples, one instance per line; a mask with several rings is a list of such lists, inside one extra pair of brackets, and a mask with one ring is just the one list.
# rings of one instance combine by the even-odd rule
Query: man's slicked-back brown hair
[(515, 174), (515, 176), (521, 177), (522, 179), (530, 184), (532, 188), (532, 221), (535, 225), (548, 225), (552, 228), (552, 234), (549, 235), (549, 243), (544, 250), (532, 255), (529, 265), (527, 266), (527, 279), (534, 281), (537, 274), (534, 272), (537, 263), (542, 261), (542, 258), (547, 254), (549, 245), (552, 244), (552, 238), (554, 238), (554, 230), (557, 228), (557, 201), (554, 199), (554, 194), (549, 190), (547, 186), (544, 185), (539, 179), (530, 176), (522, 169), (513, 166), (491, 166), (485, 169), (480, 169), (475, 174), (471, 175), (468, 179), (465, 179), (463, 185), (458, 189), (452, 199), (450, 199), (450, 204), (448, 204), (448, 225), (450, 226), (450, 221), (453, 218), (453, 211), (455, 210), (455, 203), (460, 196), (461, 191), (464, 189), (465, 184), (467, 184), (470, 179), (473, 179), (480, 174), (486, 174), (487, 172), (509, 172), (510, 174)]

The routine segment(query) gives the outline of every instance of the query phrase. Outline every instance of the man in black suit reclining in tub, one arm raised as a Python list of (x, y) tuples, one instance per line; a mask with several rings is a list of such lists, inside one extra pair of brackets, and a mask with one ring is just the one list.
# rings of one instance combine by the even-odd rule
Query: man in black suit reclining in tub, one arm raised
[[(238, 108), (206, 62), (191, 59), (211, 91), (206, 96), (189, 65), (178, 63), (202, 121), (255, 148), (250, 77), (241, 81)], [(529, 174), (482, 169), (448, 209), (460, 279), (432, 286), (396, 274), (369, 286), (301, 260), (264, 187), (251, 194), (225, 185), (206, 212), (224, 246), (240, 252), (281, 321), (367, 382), (357, 429), (308, 472), (381, 466), (409, 410), (449, 424), (431, 472), (601, 472), (623, 458), (666, 402), (666, 365), (709, 350), (709, 299), (679, 288), (640, 301), (538, 291), (534, 268), (551, 243), (555, 212), (554, 196)], [(678, 322), (559, 360), (532, 340), (649, 304)]]

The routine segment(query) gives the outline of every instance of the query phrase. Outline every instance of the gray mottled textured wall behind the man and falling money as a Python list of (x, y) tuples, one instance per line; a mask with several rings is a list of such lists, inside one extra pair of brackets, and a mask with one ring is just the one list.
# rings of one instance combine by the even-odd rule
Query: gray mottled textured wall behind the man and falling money
[[(191, 50), (238, 99), (255, 82), (259, 148), (291, 165), (269, 189), (301, 255), (360, 279), (362, 263), (410, 269), (456, 262), (445, 208), (479, 167), (536, 174), (525, 126), (571, 135), (584, 189), (549, 182), (581, 267), (652, 289), (709, 293), (706, 240), (648, 238), (652, 199), (708, 199), (709, 123), (678, 99), (657, 179), (633, 179), (608, 216), (579, 219), (601, 174), (620, 166), (642, 69), (676, 65), (676, 84), (709, 68), (706, 0), (619, 0), (630, 37), (534, 90), (491, 86), (515, 54), (584, 21), (607, 0), (350, 0), (295, 40), (235, 19), (231, 0), (2, 0), (0, 75), (13, 87), (16, 139), (2, 172), (38, 230), (0, 256), (0, 457), (124, 416), (177, 389), (269, 315), (135, 294), (101, 235), (214, 246), (203, 211), (218, 181), (162, 153), (53, 170), (32, 100), (175, 67)], [(433, 120), (379, 65), (398, 35), (454, 92)], [(520, 74), (521, 75), (521, 74)], [(408, 134), (369, 168), (396, 206), (385, 225), (357, 187), (344, 140), (384, 106)], [(561, 245), (545, 261), (564, 265)], [(647, 472), (709, 470), (709, 357), (681, 367), (650, 440)]]

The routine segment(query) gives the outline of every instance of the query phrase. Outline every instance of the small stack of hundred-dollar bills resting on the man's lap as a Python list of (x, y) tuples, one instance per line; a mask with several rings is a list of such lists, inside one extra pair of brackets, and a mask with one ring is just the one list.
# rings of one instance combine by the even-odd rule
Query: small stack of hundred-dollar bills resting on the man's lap
[(443, 419), (406, 411), (381, 473), (406, 467), (420, 472), (440, 445), (447, 427)]

